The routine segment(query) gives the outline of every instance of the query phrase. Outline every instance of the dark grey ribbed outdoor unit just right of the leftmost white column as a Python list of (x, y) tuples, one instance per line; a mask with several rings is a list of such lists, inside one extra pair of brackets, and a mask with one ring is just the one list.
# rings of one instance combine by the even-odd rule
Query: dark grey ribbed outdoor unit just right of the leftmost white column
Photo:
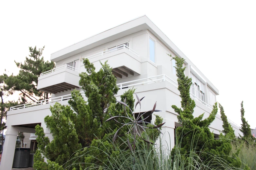
[(14, 152), (13, 168), (28, 168), (30, 148), (16, 148)]

